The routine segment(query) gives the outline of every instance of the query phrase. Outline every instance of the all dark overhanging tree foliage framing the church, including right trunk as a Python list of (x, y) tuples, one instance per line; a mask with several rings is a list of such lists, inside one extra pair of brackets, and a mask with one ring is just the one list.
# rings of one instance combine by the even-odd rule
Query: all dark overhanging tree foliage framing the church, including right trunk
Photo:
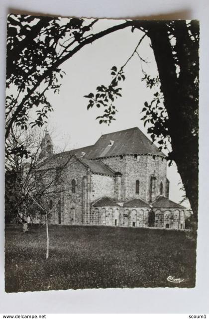
[[(194, 215), (198, 213), (198, 101), (199, 101), (199, 24), (198, 21), (125, 21), (99, 33), (92, 27), (97, 19), (60, 18), (9, 15), (7, 27), (7, 88), (15, 86), (17, 95), (6, 96), (6, 133), (8, 138), (13, 125), (26, 130), (28, 125), (42, 126), (52, 106), (46, 91), (59, 92), (64, 72), (60, 65), (85, 45), (122, 28), (131, 27), (144, 32), (133, 54), (145, 36), (151, 41), (159, 78), (144, 74), (142, 80), (150, 88), (156, 87), (152, 101), (143, 110), (148, 132), (160, 147), (170, 141), (169, 159), (177, 164), (186, 196)], [(141, 32), (140, 32), (141, 34)], [(175, 41), (173, 41), (175, 40)], [(131, 58), (130, 57), (130, 58)], [(140, 56), (139, 56), (140, 57)], [(124, 81), (123, 68), (111, 69), (110, 85), (99, 86), (91, 93), (88, 108), (104, 107), (98, 117), (100, 123), (114, 120), (114, 101), (121, 96), (118, 86)], [(141, 59), (141, 58), (140, 58)], [(37, 108), (37, 117), (28, 123), (29, 110)], [(10, 152), (21, 149), (13, 149)], [(6, 148), (6, 156), (9, 156)]]

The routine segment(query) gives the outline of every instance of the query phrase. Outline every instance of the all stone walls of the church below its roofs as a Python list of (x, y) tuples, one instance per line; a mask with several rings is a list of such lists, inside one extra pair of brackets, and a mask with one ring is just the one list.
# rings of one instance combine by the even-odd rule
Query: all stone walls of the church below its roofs
[[(91, 203), (102, 197), (109, 197), (116, 202), (125, 202), (133, 198), (150, 200), (150, 178), (152, 200), (160, 195), (166, 196), (165, 159), (152, 155), (125, 155), (103, 159), (115, 172), (115, 177), (94, 174), (76, 157), (60, 171), (51, 169), (44, 179), (49, 188), (55, 191), (51, 198), (52, 212), (48, 215), (49, 223), (54, 224), (90, 224), (123, 227), (156, 227), (169, 229), (185, 228), (185, 213), (177, 209), (147, 209), (102, 207), (91, 208)], [(58, 174), (59, 173), (59, 174)], [(44, 174), (43, 174), (44, 175)], [(75, 192), (72, 181), (75, 181)], [(121, 180), (121, 182), (120, 182)], [(139, 181), (139, 192), (136, 194), (136, 181)], [(161, 188), (162, 183), (162, 188)], [(119, 187), (119, 184), (121, 187)], [(44, 222), (44, 217), (36, 218)]]

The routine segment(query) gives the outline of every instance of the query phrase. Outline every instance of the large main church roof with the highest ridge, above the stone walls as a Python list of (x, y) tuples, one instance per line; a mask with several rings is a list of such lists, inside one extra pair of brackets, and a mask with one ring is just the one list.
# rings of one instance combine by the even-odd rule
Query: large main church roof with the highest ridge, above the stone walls
[[(108, 156), (119, 156), (125, 154), (153, 154), (165, 156), (158, 148), (142, 133), (138, 127), (108, 133), (102, 135), (94, 145), (54, 154), (43, 161), (44, 167), (55, 168), (65, 165), (72, 155), (82, 160), (99, 159)], [(95, 163), (95, 162), (94, 162)], [(95, 173), (104, 173), (109, 170), (104, 164), (93, 164), (86, 162)], [(107, 175), (113, 175), (113, 171)]]

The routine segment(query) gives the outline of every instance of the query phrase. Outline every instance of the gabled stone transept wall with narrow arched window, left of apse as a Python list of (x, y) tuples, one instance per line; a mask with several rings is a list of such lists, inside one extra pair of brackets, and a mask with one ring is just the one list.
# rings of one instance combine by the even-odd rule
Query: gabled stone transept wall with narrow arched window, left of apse
[[(51, 193), (48, 210), (53, 208), (48, 215), (51, 224), (82, 224), (83, 177), (89, 174), (89, 169), (76, 157), (72, 157), (64, 168), (54, 168), (43, 174), (45, 185), (51, 183), (48, 193)], [(75, 193), (72, 181), (75, 181)], [(40, 218), (39, 218), (40, 219)]]

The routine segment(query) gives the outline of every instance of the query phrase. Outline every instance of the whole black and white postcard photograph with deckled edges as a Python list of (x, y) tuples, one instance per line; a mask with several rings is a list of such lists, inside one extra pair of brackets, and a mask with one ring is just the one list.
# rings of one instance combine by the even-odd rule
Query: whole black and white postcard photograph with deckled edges
[(199, 21), (7, 16), (5, 292), (195, 288)]

